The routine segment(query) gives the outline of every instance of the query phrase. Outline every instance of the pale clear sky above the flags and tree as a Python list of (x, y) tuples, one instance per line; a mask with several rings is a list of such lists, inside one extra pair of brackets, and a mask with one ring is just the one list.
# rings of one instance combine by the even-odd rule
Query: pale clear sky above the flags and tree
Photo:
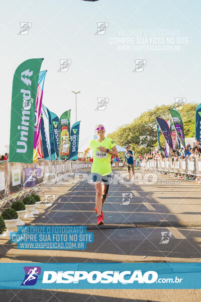
[[(176, 97), (199, 102), (200, 9), (198, 0), (2, 2), (0, 150), (9, 143), (13, 74), (28, 58), (45, 58), (42, 69), (48, 73), (43, 102), (58, 116), (71, 109), (71, 121), (75, 122), (71, 91), (81, 91), (77, 96), (80, 151), (93, 138), (97, 123), (112, 132), (146, 109), (173, 103)], [(28, 35), (18, 35), (20, 22), (32, 23)], [(105, 35), (95, 35), (97, 22), (108, 22)], [(164, 40), (153, 44), (160, 30)], [(168, 31), (177, 33), (171, 44), (174, 50), (159, 51)], [(128, 36), (133, 38), (132, 45)], [(133, 48), (121, 48), (121, 41), (114, 44), (121, 37), (125, 38), (124, 47)], [(177, 44), (181, 37), (183, 44)], [(157, 47), (135, 49), (136, 45), (150, 44)], [(180, 50), (175, 51), (177, 46)], [(71, 60), (67, 72), (57, 72), (60, 59)], [(133, 72), (135, 59), (147, 60), (143, 72)], [(95, 111), (101, 97), (109, 98), (107, 109)]]

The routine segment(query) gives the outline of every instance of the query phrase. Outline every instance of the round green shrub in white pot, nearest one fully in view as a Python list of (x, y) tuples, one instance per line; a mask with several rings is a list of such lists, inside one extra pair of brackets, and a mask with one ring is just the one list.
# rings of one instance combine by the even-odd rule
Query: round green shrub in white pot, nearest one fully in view
[(16, 228), (18, 221), (18, 213), (16, 210), (9, 208), (2, 212), (2, 217), (6, 224), (7, 231), (3, 234), (4, 237), (10, 237), (13, 232), (12, 229)]

